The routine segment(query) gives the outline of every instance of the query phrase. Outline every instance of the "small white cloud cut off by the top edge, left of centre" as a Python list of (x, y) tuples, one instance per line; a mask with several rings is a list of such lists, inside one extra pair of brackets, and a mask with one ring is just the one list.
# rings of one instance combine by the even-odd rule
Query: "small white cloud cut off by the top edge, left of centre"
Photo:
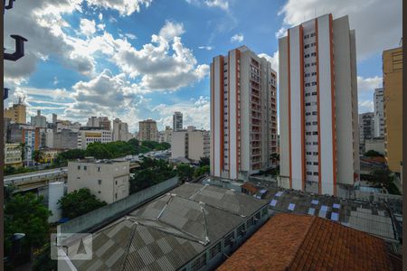
[(120, 16), (131, 15), (140, 12), (140, 6), (148, 7), (153, 0), (87, 0), (88, 5), (97, 6), (104, 9), (115, 9)]

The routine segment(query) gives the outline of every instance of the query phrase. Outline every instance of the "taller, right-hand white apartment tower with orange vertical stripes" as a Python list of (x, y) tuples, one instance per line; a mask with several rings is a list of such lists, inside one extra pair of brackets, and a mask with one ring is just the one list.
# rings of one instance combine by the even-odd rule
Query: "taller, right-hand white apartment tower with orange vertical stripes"
[[(346, 196), (359, 176), (355, 30), (326, 14), (279, 39), (280, 185)], [(339, 188), (339, 189), (338, 189)]]

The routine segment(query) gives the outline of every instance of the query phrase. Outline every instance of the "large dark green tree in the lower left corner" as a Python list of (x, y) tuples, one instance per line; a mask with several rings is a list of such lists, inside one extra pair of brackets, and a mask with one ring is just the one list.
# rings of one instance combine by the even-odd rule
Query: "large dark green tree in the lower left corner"
[(24, 233), (30, 247), (40, 247), (49, 240), (48, 218), (51, 211), (43, 204), (43, 196), (33, 193), (14, 194), (5, 201), (5, 249), (11, 248), (14, 233)]

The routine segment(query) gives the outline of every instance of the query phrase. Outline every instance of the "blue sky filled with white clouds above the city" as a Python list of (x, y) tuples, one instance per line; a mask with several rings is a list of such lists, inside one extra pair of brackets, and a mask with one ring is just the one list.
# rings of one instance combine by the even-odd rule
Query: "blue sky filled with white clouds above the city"
[(5, 52), (10, 34), (28, 42), (24, 58), (5, 61), (5, 107), (24, 97), (28, 120), (38, 109), (50, 122), (118, 117), (131, 132), (147, 118), (172, 126), (181, 111), (185, 126), (209, 129), (214, 56), (246, 45), (279, 70), (279, 37), (329, 13), (355, 29), (359, 113), (373, 111), (402, 0), (19, 0), (5, 11)]

